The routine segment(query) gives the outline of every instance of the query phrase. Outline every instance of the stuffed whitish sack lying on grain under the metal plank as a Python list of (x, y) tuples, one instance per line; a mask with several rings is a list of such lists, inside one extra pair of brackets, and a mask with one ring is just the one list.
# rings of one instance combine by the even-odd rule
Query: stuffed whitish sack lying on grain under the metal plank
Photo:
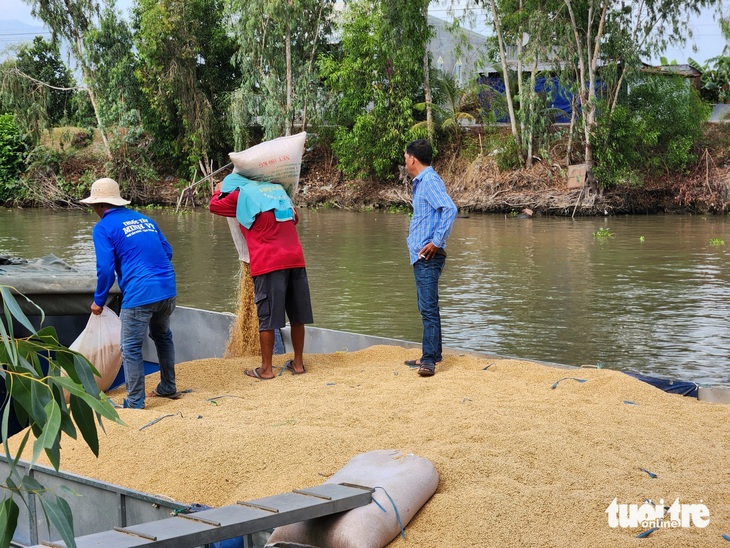
[(371, 502), (349, 512), (278, 527), (267, 546), (290, 542), (318, 548), (382, 548), (401, 533), (398, 516), (406, 527), (436, 492), (438, 482), (436, 468), (423, 457), (396, 450), (361, 453), (325, 483), (374, 488), (373, 500), (385, 511)]

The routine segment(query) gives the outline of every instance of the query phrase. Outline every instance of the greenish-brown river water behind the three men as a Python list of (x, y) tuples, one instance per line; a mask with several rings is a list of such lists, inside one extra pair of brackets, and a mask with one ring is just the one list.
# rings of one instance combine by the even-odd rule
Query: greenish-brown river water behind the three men
[[(224, 219), (151, 210), (178, 303), (236, 310)], [(419, 341), (403, 213), (301, 210), (318, 327)], [(0, 254), (93, 266), (93, 212), (0, 210)], [(730, 385), (730, 221), (711, 216), (459, 218), (441, 282), (444, 345)], [(612, 236), (594, 236), (600, 229)], [(720, 244), (718, 240), (726, 242)]]

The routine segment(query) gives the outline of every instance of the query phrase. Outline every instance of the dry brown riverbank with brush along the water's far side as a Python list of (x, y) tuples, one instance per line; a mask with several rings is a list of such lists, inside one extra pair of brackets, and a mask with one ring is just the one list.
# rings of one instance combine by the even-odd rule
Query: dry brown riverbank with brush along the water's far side
[[(58, 128), (45, 143), (63, 150), (74, 128)], [(35, 170), (27, 175), (34, 183), (26, 200), (42, 207), (74, 207), (88, 193), (88, 181), (108, 175), (108, 158), (100, 151), (98, 139), (63, 156), (56, 168)], [(472, 141), (481, 143), (472, 136)], [(560, 145), (562, 146), (562, 145)], [(730, 211), (730, 124), (708, 124), (698, 162), (686, 173), (643, 175), (643, 184), (599, 190), (597, 187), (568, 188), (565, 162), (556, 146), (553, 159), (535, 158), (530, 169), (503, 171), (497, 167), (493, 151), (476, 146), (460, 149), (444, 145), (434, 160), (434, 168), (444, 179), (454, 202), (463, 213), (517, 214), (523, 208), (535, 215), (605, 216), (618, 214), (702, 213)], [(124, 160), (120, 160), (123, 164)], [(205, 205), (213, 185), (198, 185), (181, 196), (190, 181), (161, 177), (157, 181), (139, 178), (135, 170), (125, 170), (132, 179), (118, 177), (125, 194), (135, 205), (159, 204), (188, 207)], [(212, 182), (222, 179), (222, 171)], [(198, 175), (196, 179), (201, 176)], [(131, 181), (137, 181), (133, 183)], [(298, 207), (332, 207), (347, 210), (410, 208), (410, 185), (401, 177), (391, 181), (348, 179), (338, 169), (332, 151), (321, 146), (308, 148), (302, 160)]]

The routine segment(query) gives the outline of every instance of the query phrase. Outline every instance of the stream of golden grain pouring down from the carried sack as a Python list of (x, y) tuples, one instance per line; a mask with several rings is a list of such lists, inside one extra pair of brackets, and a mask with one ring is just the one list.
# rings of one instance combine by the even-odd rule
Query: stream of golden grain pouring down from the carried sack
[(253, 277), (251, 266), (241, 261), (241, 282), (238, 288), (238, 310), (236, 320), (231, 325), (231, 332), (224, 356), (241, 358), (243, 356), (260, 356), (259, 317), (254, 303)]

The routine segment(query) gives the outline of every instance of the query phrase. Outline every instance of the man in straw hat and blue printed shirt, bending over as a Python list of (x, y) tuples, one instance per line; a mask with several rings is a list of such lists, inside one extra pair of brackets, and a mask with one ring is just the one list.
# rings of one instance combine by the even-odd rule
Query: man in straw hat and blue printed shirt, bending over
[(124, 207), (129, 204), (119, 194), (113, 179), (94, 182), (90, 204), (101, 220), (94, 226), (97, 284), (93, 314), (101, 314), (116, 277), (122, 291), (122, 358), (127, 382), (124, 407), (144, 409), (145, 382), (142, 343), (149, 330), (160, 362), (160, 383), (153, 394), (177, 396), (175, 347), (170, 331), (170, 315), (175, 310), (175, 271), (172, 247), (157, 224)]

